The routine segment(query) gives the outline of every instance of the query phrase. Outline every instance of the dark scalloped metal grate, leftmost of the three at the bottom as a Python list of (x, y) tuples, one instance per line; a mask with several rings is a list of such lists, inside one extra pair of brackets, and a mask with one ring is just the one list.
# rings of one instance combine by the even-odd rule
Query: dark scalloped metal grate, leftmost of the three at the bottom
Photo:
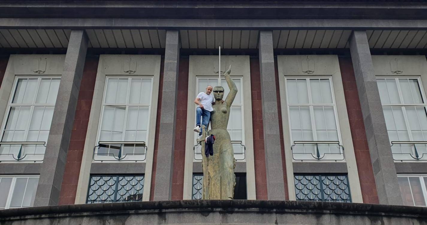
[(144, 175), (91, 176), (86, 203), (142, 201)]

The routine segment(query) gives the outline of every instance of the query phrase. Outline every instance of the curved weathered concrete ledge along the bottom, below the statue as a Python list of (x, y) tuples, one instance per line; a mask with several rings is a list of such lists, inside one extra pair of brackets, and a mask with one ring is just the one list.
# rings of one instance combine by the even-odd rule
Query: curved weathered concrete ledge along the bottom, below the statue
[(146, 201), (0, 210), (0, 224), (426, 225), (427, 208), (310, 201)]

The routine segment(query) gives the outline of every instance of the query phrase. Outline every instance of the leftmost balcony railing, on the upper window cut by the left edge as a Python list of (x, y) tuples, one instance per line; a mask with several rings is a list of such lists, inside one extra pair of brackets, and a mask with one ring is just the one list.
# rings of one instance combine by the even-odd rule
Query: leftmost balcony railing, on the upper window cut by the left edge
[(0, 162), (41, 162), (46, 142), (0, 142)]

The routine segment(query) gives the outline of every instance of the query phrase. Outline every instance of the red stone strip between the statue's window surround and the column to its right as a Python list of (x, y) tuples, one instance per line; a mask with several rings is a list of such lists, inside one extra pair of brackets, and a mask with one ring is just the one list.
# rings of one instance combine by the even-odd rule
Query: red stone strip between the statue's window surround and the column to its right
[(250, 59), (252, 127), (254, 135), (255, 194), (259, 200), (267, 200), (267, 174), (264, 151), (263, 108), (261, 104), (261, 77), (259, 59)]

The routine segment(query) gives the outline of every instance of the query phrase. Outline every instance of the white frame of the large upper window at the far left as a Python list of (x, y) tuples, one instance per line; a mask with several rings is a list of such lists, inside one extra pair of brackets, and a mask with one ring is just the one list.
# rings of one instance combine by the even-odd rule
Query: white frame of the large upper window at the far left
[[(13, 98), (15, 97), (15, 94), (16, 94), (16, 88), (18, 86), (18, 80), (20, 80), (20, 79), (35, 79), (35, 78), (37, 78), (37, 82), (38, 83), (37, 83), (37, 89), (35, 91), (33, 103), (26, 103), (26, 104), (12, 103)], [(54, 107), (55, 108), (56, 101), (53, 104), (49, 104), (49, 103), (37, 104), (37, 103), (35, 103), (37, 95), (38, 95), (38, 90), (40, 88), (41, 80), (42, 79), (46, 79), (46, 78), (61, 80), (61, 76), (15, 76), (15, 80), (14, 80), (13, 86), (12, 86), (12, 91), (11, 91), (11, 94), (10, 94), (10, 97), (9, 97), (9, 101), (8, 101), (8, 104), (7, 104), (7, 107), (6, 107), (6, 113), (4, 114), (4, 117), (3, 117), (2, 127), (1, 127), (1, 131), (0, 131), (0, 141), (3, 139), (3, 135), (4, 135), (4, 132), (5, 132), (5, 128), (6, 128), (6, 123), (7, 123), (7, 120), (9, 118), (9, 113), (10, 113), (10, 110), (12, 109), (12, 107), (30, 107), (29, 115), (31, 116), (31, 118), (32, 118), (33, 111), (34, 111), (35, 107)], [(56, 98), (57, 97), (58, 96), (56, 96)], [(26, 142), (26, 139), (28, 137), (29, 126), (31, 124), (31, 118), (29, 119), (29, 122), (27, 124), (27, 128), (26, 128), (25, 134), (24, 134), (24, 139), (22, 140), (22, 142)], [(47, 140), (46, 140), (46, 145), (47, 145)], [(32, 161), (25, 161), (25, 162), (29, 163), (29, 162), (32, 162)], [(8, 163), (20, 163), (20, 162), (18, 162), (18, 161), (16, 161), (16, 162), (8, 161)], [(41, 163), (41, 161), (38, 161), (38, 162), (35, 162), (35, 163)]]

